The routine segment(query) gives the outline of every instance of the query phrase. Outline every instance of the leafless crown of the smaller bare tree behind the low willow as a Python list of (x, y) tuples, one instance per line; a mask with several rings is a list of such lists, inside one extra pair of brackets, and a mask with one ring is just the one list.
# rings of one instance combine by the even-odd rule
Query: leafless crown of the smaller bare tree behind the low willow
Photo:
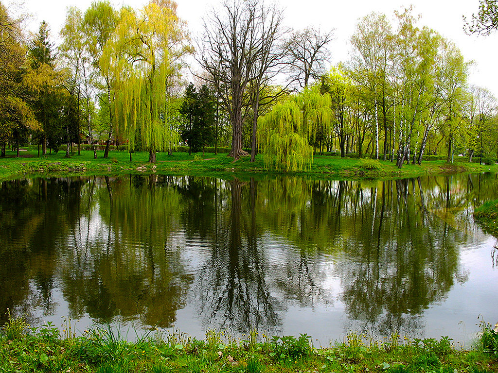
[(332, 41), (333, 35), (334, 30), (323, 33), (320, 29), (307, 27), (294, 31), (287, 41), (289, 72), (301, 88), (308, 86), (310, 78), (317, 79), (323, 74), (330, 58), (326, 45)]

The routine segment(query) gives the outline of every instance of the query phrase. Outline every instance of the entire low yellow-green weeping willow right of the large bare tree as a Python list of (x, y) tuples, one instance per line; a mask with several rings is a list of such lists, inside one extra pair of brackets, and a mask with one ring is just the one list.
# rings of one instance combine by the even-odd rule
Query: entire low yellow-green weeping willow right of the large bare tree
[(329, 94), (318, 88), (305, 89), (292, 99), (275, 105), (261, 117), (258, 129), (259, 151), (269, 168), (286, 171), (309, 169), (318, 130), (331, 131)]

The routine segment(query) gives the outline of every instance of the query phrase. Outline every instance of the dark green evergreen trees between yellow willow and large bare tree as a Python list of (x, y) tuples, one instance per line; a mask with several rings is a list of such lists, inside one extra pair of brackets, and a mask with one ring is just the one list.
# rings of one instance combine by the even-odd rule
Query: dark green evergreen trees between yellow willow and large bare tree
[(192, 83), (185, 90), (180, 107), (183, 116), (181, 139), (189, 146), (190, 152), (200, 152), (214, 142), (215, 101), (208, 86), (203, 85), (199, 92)]

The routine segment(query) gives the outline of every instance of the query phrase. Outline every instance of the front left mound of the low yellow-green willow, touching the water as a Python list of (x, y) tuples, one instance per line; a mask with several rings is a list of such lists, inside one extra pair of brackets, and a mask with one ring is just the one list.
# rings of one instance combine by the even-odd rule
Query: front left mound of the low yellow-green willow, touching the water
[(276, 105), (259, 119), (258, 144), (267, 167), (303, 170), (313, 162), (313, 151), (303, 136), (302, 113), (294, 100)]

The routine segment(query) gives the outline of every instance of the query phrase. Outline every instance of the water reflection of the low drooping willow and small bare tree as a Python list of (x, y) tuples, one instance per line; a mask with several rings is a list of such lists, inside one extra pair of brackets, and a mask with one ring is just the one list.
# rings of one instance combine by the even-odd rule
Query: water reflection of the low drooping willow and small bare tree
[(262, 183), (258, 195), (260, 224), (297, 246), (297, 250), (287, 250), (283, 263), (286, 278), (279, 281), (286, 299), (294, 299), (301, 306), (313, 306), (317, 301), (333, 303), (328, 292), (331, 289), (323, 285), (329, 271), (325, 256), (338, 254), (333, 243), (342, 239), (341, 212), (353, 214), (345, 203), (355, 197), (347, 193), (350, 187), (347, 182), (298, 178)]

